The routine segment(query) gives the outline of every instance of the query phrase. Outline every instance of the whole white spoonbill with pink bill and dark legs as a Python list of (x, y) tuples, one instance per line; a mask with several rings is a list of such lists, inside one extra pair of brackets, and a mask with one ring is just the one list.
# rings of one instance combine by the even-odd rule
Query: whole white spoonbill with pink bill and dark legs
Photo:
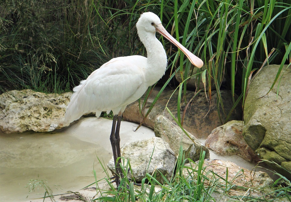
[[(65, 121), (71, 123), (90, 111), (96, 112), (96, 117), (99, 117), (102, 111), (107, 111), (108, 114), (112, 110), (114, 116), (110, 142), (114, 162), (118, 163), (115, 166), (117, 187), (121, 174), (119, 129), (122, 112), (128, 104), (138, 100), (149, 86), (154, 85), (165, 74), (167, 67), (166, 51), (155, 33), (160, 33), (180, 48), (193, 65), (198, 68), (203, 65), (201, 59), (188, 51), (165, 30), (159, 17), (154, 13), (141, 14), (136, 27), (148, 58), (134, 55), (117, 57), (106, 62), (73, 89), (74, 94), (65, 114)], [(117, 158), (119, 158), (118, 162), (116, 162)]]

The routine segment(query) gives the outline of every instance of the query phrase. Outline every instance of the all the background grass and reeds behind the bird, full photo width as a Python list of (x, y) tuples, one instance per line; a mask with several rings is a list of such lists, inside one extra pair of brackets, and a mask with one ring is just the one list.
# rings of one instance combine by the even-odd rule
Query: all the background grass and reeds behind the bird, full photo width
[[(197, 74), (198, 79), (208, 77), (208, 86), (215, 85), (218, 93), (231, 90), (236, 106), (260, 68), (281, 64), (280, 72), (283, 64), (291, 63), (290, 8), (289, 0), (4, 0), (0, 93), (24, 88), (70, 91), (112, 57), (145, 56), (135, 24), (141, 13), (152, 11), (178, 41), (203, 59), (207, 70)], [(186, 80), (193, 70), (189, 61), (168, 41), (163, 43), (170, 58), (169, 74), (181, 74)], [(186, 86), (184, 82), (185, 102)], [(222, 101), (218, 104), (223, 107)]]

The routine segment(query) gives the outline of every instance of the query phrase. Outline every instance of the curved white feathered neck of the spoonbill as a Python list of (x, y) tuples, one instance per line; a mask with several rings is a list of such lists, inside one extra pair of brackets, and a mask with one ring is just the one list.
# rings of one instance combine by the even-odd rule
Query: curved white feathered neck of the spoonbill
[(147, 65), (145, 76), (147, 77), (148, 86), (154, 85), (165, 74), (167, 68), (167, 55), (162, 43), (155, 37), (145, 37), (143, 44), (147, 52)]

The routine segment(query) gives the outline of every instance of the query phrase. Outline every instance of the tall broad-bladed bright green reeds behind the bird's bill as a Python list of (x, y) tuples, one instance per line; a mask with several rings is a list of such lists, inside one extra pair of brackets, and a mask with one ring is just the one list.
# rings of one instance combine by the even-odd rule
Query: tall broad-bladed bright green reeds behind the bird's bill
[[(162, 2), (165, 5), (169, 4), (168, 1)], [(290, 2), (243, 0), (195, 2), (197, 3), (176, 1), (172, 8), (163, 6), (163, 19), (169, 20), (166, 21), (168, 30), (173, 30), (177, 40), (204, 60), (208, 86), (213, 85), (211, 83), (213, 79), (219, 95), (217, 105), (222, 107), (221, 113), (229, 117), (230, 114), (224, 111), (221, 89), (231, 90), (234, 109), (241, 101), (244, 102), (251, 82), (249, 78), (254, 72), (268, 64), (281, 65), (275, 84), (283, 65), (291, 64)], [(198, 70), (188, 74), (192, 72), (192, 67), (187, 59), (178, 55), (178, 52), (171, 55), (169, 67), (172, 68), (173, 74), (175, 72), (181, 74), (182, 82), (200, 72)], [(202, 75), (196, 76), (205, 82)], [(226, 83), (223, 83), (223, 78), (226, 79)], [(184, 97), (181, 101), (187, 105), (191, 98), (187, 97), (186, 89), (187, 82), (184, 82), (182, 89)], [(181, 95), (181, 89), (179, 94)], [(210, 88), (208, 94), (211, 100)], [(177, 100), (178, 105), (179, 102), (180, 100)], [(180, 108), (177, 108), (177, 111), (181, 114)], [(233, 110), (230, 113), (232, 112)], [(222, 120), (222, 123), (227, 121), (228, 118)], [(182, 124), (183, 117), (178, 117), (178, 122)]]

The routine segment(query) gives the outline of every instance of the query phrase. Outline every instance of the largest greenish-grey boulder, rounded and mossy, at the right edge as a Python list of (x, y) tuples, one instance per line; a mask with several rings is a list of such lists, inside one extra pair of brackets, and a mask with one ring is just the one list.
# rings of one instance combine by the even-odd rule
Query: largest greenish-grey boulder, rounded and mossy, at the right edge
[[(280, 65), (264, 67), (251, 82), (245, 100), (243, 136), (260, 159), (274, 161), (291, 172), (291, 68), (285, 65), (268, 93)], [(287, 69), (286, 69), (287, 68)], [(286, 70), (285, 70), (286, 69)], [(285, 70), (285, 71), (284, 71)], [(282, 77), (281, 77), (282, 76)], [(267, 94), (267, 95), (266, 95)], [(266, 96), (265, 96), (266, 95)], [(275, 166), (275, 164), (270, 164)], [(275, 166), (281, 171), (279, 166)], [(291, 174), (281, 171), (291, 178)]]

